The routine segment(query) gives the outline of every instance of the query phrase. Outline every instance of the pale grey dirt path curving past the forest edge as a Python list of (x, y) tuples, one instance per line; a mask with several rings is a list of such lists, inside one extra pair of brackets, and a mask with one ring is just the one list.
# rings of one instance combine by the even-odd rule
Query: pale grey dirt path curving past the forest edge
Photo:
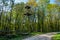
[(42, 35), (36, 35), (23, 40), (51, 40), (51, 37), (54, 36), (55, 34), (57, 33), (53, 32), (53, 33), (47, 33)]

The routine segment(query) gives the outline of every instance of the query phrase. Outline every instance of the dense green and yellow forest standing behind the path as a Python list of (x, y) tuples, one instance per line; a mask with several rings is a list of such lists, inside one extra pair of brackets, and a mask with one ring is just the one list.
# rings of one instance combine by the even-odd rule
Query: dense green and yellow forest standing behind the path
[(0, 0), (0, 35), (60, 32), (60, 0)]

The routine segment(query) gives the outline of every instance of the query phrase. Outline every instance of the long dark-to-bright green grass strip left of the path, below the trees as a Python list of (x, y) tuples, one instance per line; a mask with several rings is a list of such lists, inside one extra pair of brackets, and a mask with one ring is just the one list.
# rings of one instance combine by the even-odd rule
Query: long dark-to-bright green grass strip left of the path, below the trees
[(7, 37), (0, 37), (0, 40), (22, 40), (24, 38), (28, 38), (37, 34), (42, 34), (41, 32), (32, 32), (29, 35), (17, 35), (16, 37), (7, 38)]

